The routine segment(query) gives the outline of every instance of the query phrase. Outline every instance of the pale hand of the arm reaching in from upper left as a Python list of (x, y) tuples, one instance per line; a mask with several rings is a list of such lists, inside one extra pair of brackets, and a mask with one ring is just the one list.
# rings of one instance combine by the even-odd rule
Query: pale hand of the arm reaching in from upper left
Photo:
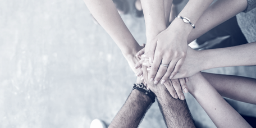
[[(145, 44), (142, 44), (138, 49), (138, 51), (141, 51), (141, 49), (144, 49)], [(136, 51), (135, 53), (137, 53), (138, 51)], [(137, 55), (137, 54), (136, 54)], [(136, 74), (136, 76), (141, 76), (143, 74), (142, 70), (141, 70), (141, 66), (138, 66), (137, 68), (134, 67), (134, 65), (136, 63), (138, 63), (141, 59), (140, 56), (136, 56), (135, 54), (128, 54), (128, 55), (124, 55), (129, 66), (131, 67), (132, 71), (134, 71), (134, 73)]]

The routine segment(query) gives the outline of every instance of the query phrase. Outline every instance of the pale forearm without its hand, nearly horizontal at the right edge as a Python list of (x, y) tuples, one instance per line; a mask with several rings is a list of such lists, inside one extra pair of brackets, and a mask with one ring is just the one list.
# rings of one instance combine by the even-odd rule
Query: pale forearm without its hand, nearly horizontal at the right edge
[(215, 67), (256, 65), (255, 49), (256, 42), (235, 47), (200, 51), (205, 62), (203, 70)]

